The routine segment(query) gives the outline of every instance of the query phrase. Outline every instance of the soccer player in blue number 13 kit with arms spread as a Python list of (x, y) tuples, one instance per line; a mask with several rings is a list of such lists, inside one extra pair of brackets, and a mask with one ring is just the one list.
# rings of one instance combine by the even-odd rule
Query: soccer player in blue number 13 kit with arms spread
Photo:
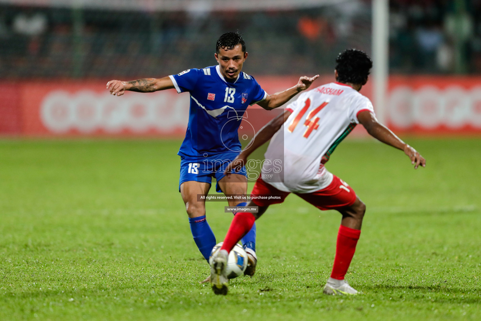
[[(216, 241), (205, 217), (205, 201), (199, 201), (198, 195), (209, 192), (212, 177), (217, 181), (217, 192), (247, 193), (245, 167), (230, 177), (224, 174), (225, 166), (241, 152), (238, 128), (245, 110), (253, 104), (266, 110), (277, 108), (300, 91), (308, 89), (319, 77), (304, 76), (287, 90), (267, 94), (254, 77), (242, 72), (247, 51), (244, 40), (236, 32), (219, 37), (215, 59), (219, 63), (216, 66), (187, 69), (177, 75), (132, 81), (111, 80), (107, 83), (107, 89), (116, 96), (123, 95), (125, 90), (152, 92), (176, 89), (178, 93), (190, 93), (189, 125), (177, 153), (180, 156), (179, 191), (186, 206), (195, 244), (206, 260), (209, 260)], [(247, 205), (245, 199), (241, 202), (229, 200), (228, 203), (229, 206)], [(249, 261), (244, 274), (251, 276), (257, 263), (255, 232), (254, 225), (242, 238)]]

